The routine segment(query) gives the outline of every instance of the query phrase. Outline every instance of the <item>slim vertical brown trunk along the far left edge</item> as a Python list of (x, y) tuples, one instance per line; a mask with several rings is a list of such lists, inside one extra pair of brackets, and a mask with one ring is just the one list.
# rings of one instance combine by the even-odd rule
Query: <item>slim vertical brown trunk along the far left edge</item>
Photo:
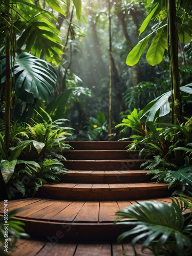
[(9, 148), (10, 140), (10, 111), (11, 111), (11, 76), (10, 76), (10, 17), (9, 6), (10, 1), (7, 1), (5, 5), (6, 14), (6, 31), (5, 31), (5, 50), (6, 50), (6, 103), (5, 103), (5, 142), (7, 148)]

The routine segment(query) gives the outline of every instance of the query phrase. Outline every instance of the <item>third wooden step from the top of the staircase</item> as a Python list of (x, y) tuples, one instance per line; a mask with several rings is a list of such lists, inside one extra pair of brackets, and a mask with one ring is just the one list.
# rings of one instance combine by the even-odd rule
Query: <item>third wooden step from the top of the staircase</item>
[(69, 170), (139, 170), (147, 160), (60, 160)]

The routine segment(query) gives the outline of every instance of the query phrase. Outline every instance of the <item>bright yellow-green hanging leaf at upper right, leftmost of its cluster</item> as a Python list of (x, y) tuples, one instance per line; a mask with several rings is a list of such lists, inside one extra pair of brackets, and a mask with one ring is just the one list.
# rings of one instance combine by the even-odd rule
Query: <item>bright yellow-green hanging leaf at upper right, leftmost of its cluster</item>
[(142, 52), (145, 50), (152, 33), (138, 42), (138, 44), (131, 50), (126, 58), (126, 65), (134, 66), (138, 63)]

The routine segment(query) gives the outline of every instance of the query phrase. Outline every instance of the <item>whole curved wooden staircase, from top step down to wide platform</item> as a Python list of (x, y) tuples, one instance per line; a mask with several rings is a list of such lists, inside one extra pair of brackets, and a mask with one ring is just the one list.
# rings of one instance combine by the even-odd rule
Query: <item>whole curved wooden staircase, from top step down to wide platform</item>
[(9, 210), (20, 208), (15, 219), (26, 224), (33, 238), (116, 241), (127, 230), (114, 225), (119, 209), (145, 199), (171, 203), (168, 185), (152, 182), (140, 169), (146, 160), (126, 151), (130, 142), (68, 143), (74, 150), (64, 154), (69, 175), (61, 183), (43, 185), (36, 198), (9, 201)]

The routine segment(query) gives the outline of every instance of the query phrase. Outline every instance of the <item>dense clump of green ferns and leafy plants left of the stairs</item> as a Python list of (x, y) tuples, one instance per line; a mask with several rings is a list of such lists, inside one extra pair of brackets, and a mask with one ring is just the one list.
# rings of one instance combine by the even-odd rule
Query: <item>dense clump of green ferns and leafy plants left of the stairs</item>
[(67, 132), (68, 127), (63, 126), (67, 120), (52, 121), (43, 109), (41, 112), (44, 117), (39, 113), (38, 115), (42, 122), (23, 124), (19, 126), (22, 131), (14, 125), (14, 147), (7, 150), (0, 135), (2, 197), (32, 196), (42, 184), (59, 182), (59, 176), (67, 174), (65, 166), (58, 161), (65, 160), (62, 153), (70, 148), (64, 142), (66, 136), (70, 135)]

